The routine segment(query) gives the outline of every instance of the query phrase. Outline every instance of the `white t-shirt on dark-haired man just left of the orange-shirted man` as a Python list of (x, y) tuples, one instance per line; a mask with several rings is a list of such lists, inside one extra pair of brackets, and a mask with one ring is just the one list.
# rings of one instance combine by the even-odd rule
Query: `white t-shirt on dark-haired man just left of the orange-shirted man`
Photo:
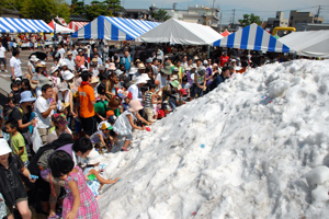
[(44, 118), (42, 113), (48, 111), (50, 106), (49, 100), (44, 99), (43, 96), (38, 96), (34, 103), (34, 110), (37, 115), (37, 127), (38, 128), (49, 128), (52, 122), (52, 115), (54, 111), (49, 113), (49, 115)]

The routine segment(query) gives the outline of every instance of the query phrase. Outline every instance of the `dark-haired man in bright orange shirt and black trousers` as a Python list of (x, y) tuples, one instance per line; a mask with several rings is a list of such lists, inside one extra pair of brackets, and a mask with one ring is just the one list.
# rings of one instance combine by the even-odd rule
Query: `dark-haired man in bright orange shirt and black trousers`
[(83, 127), (83, 131), (88, 137), (97, 131), (97, 120), (94, 118), (94, 107), (95, 97), (93, 88), (90, 85), (91, 73), (88, 71), (82, 71), (81, 73), (82, 82), (78, 89), (80, 99), (80, 118)]

